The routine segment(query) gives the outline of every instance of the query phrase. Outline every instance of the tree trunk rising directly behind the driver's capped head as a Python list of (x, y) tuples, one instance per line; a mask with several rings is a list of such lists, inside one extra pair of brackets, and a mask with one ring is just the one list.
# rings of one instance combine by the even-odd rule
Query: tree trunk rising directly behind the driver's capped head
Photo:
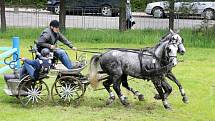
[(65, 10), (65, 0), (60, 0), (60, 14), (59, 14), (59, 21), (60, 21), (60, 30), (66, 30), (66, 10)]

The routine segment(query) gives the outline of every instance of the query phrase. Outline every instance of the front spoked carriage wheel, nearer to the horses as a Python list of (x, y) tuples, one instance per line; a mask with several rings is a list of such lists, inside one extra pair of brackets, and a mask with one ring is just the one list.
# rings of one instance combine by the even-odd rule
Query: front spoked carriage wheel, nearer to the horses
[[(63, 79), (70, 80), (65, 81)], [(72, 76), (63, 76), (57, 79), (51, 90), (52, 101), (55, 104), (70, 104), (72, 101), (78, 100), (83, 95), (84, 90), (81, 82)]]

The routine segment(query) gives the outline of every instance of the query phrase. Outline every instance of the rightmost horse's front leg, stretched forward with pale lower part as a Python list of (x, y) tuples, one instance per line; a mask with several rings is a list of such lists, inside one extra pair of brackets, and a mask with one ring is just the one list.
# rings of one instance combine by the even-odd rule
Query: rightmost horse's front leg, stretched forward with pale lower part
[(167, 78), (169, 78), (170, 80), (172, 80), (173, 82), (175, 82), (177, 84), (177, 86), (178, 86), (178, 88), (180, 90), (181, 96), (183, 97), (182, 101), (184, 103), (188, 103), (189, 102), (188, 97), (185, 94), (185, 91), (184, 91), (181, 83), (176, 79), (175, 75), (172, 72), (169, 72), (166, 76), (167, 76)]

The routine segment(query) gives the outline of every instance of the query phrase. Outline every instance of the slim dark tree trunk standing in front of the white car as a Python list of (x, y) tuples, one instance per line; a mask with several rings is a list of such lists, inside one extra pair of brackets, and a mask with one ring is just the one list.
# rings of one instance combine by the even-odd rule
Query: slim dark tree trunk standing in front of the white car
[(174, 29), (174, 4), (175, 0), (169, 0), (169, 29)]

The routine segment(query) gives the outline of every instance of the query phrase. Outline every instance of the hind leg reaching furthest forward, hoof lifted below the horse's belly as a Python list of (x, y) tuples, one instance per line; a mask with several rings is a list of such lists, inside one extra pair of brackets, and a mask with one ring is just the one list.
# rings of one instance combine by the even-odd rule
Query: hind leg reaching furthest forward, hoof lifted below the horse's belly
[(125, 75), (125, 74), (122, 75), (122, 77), (121, 77), (122, 86), (125, 87), (127, 90), (131, 91), (135, 96), (137, 96), (139, 101), (143, 101), (144, 100), (144, 95), (141, 94), (139, 91), (134, 90), (133, 88), (129, 87), (127, 77), (128, 76)]

